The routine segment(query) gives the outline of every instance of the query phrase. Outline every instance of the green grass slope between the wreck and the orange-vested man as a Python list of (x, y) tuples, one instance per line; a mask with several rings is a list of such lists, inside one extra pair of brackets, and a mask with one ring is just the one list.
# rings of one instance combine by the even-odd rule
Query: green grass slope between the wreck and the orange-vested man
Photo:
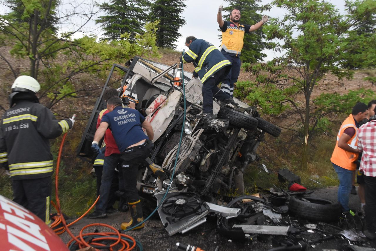
[[(335, 131), (338, 125), (332, 125)], [(315, 189), (328, 186), (338, 186), (337, 173), (330, 161), (335, 136), (321, 135), (311, 139), (309, 148), (309, 161), (306, 170), (301, 169), (300, 144), (287, 144), (289, 135), (285, 131), (279, 138), (267, 136), (258, 148), (260, 160), (250, 164), (244, 175), (244, 184), (247, 190), (258, 188), (280, 187), (287, 189), (287, 184), (280, 183), (277, 179), (279, 169), (288, 169), (300, 176), (302, 186)], [(259, 166), (265, 164), (271, 173), (265, 173)], [(317, 181), (317, 182), (315, 182)], [(320, 184), (318, 184), (320, 183)]]

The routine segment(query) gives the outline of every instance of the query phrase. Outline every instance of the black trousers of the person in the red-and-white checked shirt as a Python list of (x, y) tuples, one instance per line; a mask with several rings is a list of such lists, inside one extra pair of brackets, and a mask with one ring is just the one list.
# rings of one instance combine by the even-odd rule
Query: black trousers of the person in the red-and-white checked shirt
[(365, 181), (365, 226), (368, 231), (376, 231), (376, 177), (364, 175)]

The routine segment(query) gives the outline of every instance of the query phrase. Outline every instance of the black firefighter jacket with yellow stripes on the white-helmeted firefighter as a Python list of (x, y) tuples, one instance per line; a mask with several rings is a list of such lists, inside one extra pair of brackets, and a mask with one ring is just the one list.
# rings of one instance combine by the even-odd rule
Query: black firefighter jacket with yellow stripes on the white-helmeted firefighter
[(5, 112), (0, 125), (0, 163), (9, 166), (12, 180), (52, 175), (49, 139), (67, 132), (70, 120), (58, 121), (47, 107), (20, 100)]

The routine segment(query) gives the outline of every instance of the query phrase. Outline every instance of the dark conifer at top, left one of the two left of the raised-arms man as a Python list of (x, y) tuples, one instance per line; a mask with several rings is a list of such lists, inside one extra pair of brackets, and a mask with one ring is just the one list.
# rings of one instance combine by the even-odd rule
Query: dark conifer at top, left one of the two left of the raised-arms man
[(106, 39), (119, 40), (121, 34), (129, 33), (132, 40), (135, 35), (143, 34), (150, 2), (147, 0), (123, 1), (111, 0), (110, 3), (98, 5), (106, 13), (96, 20), (102, 24)]

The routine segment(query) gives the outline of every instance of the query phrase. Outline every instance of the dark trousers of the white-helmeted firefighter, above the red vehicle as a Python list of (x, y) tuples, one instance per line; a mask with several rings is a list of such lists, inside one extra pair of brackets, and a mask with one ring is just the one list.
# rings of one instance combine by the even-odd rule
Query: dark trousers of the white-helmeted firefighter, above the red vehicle
[(13, 201), (50, 224), (51, 177), (13, 180)]

